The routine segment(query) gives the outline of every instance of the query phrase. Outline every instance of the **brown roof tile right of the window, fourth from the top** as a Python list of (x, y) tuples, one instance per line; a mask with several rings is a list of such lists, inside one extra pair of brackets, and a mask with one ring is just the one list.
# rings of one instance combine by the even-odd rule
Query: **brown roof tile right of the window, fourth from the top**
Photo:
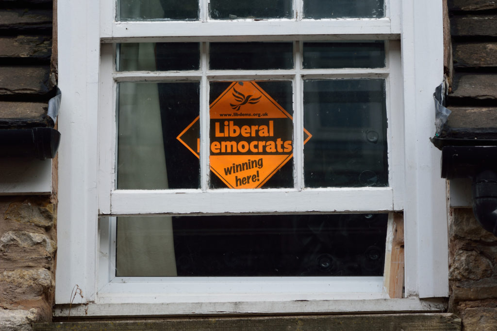
[(497, 73), (456, 73), (451, 101), (460, 98), (497, 100)]

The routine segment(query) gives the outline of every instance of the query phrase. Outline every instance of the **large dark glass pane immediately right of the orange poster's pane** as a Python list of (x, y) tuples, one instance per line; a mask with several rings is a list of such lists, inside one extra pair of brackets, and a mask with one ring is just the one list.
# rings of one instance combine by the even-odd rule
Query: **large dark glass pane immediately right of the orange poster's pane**
[(384, 79), (304, 81), (305, 186), (388, 186)]

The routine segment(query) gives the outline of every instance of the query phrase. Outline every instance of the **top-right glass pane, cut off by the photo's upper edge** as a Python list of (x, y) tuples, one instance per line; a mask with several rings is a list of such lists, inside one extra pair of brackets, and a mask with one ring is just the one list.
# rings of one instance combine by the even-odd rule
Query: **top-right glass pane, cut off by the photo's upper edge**
[(304, 18), (385, 16), (384, 0), (304, 0)]

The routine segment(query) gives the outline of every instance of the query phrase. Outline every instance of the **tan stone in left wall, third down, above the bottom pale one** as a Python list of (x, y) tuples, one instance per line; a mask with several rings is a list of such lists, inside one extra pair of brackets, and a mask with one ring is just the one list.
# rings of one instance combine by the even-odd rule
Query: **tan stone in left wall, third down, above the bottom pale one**
[(52, 289), (52, 273), (44, 268), (0, 273), (0, 306), (33, 306)]

